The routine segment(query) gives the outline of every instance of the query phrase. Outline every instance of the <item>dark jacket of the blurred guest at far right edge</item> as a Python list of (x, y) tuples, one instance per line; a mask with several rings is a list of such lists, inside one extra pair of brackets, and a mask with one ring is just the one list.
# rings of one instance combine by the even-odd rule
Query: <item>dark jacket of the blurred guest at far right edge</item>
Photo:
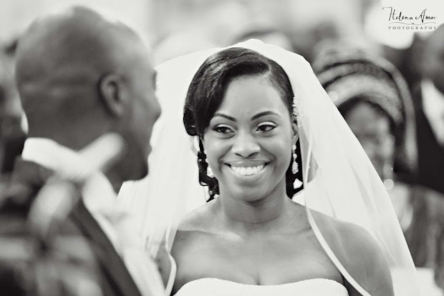
[(434, 136), (432, 127), (422, 110), (420, 85), (413, 87), (418, 143), (418, 184), (444, 193), (444, 148)]

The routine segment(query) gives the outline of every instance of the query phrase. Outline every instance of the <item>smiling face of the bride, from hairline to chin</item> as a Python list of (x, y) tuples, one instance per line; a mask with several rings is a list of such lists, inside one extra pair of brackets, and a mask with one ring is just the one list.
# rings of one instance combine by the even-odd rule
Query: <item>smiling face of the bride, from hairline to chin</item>
[[(264, 76), (235, 78), (205, 130), (207, 161), (221, 196), (254, 201), (285, 192), (297, 127)], [(280, 187), (282, 186), (282, 188)]]

